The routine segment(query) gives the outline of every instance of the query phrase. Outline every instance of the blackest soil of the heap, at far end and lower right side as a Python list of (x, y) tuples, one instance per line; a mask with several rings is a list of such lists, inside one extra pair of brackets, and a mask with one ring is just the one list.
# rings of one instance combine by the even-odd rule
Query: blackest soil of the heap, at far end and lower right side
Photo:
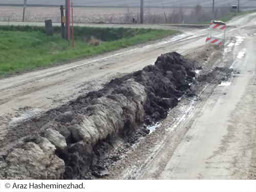
[[(193, 83), (194, 77), (193, 65), (188, 60), (184, 59), (178, 53), (168, 53), (158, 57), (155, 66), (147, 66), (143, 70), (128, 74), (122, 78), (113, 79), (105, 85), (104, 89), (90, 92), (87, 96), (81, 96), (71, 102), (70, 106), (81, 109), (82, 106), (89, 105), (90, 100), (108, 94), (110, 94), (109, 97), (119, 93), (129, 96), (129, 90), (125, 90), (122, 87), (122, 83), (127, 79), (133, 78), (145, 88), (147, 99), (144, 105), (144, 120), (146, 124), (151, 124), (166, 118), (168, 110), (178, 104), (179, 97), (184, 94), (193, 95), (190, 90), (190, 84)], [(136, 125), (132, 125), (134, 123)], [(125, 122), (125, 129), (121, 129), (118, 136), (134, 143), (136, 139), (136, 137), (133, 137), (133, 133), (136, 130), (133, 128), (134, 126), (141, 126), (141, 122)], [(148, 130), (143, 129), (139, 134), (143, 135), (143, 133), (148, 133)], [(65, 179), (74, 178), (74, 169), (79, 170), (81, 167), (84, 171), (80, 179), (92, 178), (90, 172), (92, 176), (103, 177), (104, 172), (102, 174), (101, 171), (108, 168), (105, 165), (109, 163), (105, 163), (102, 157), (104, 157), (106, 152), (110, 151), (110, 148), (115, 142), (115, 137), (117, 136), (110, 135), (104, 140), (97, 142), (93, 147), (90, 146), (86, 151), (80, 150), (79, 144), (73, 145), (72, 148), (61, 154), (61, 158), (65, 159), (65, 162), (70, 165), (69, 169), (66, 170)], [(80, 154), (81, 156), (74, 154)], [(81, 159), (83, 159), (83, 162), (79, 163)], [(118, 157), (111, 157), (108, 160), (115, 161), (118, 160)], [(86, 164), (91, 164), (91, 166), (87, 167)], [(78, 176), (78, 173), (75, 173), (75, 175)]]

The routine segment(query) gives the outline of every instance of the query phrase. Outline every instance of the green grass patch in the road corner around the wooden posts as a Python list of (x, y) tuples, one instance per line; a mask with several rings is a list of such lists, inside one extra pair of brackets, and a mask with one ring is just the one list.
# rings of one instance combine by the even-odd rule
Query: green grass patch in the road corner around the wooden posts
[[(28, 27), (9, 31), (8, 27), (0, 28), (0, 76), (51, 67), (177, 33), (172, 30), (154, 29), (77, 28), (75, 48), (72, 48), (57, 32), (48, 40), (42, 32), (43, 29), (36, 27), (31, 30), (31, 27)], [(89, 31), (104, 41), (99, 46), (91, 46), (88, 42), (83, 42), (84, 34), (91, 35)]]

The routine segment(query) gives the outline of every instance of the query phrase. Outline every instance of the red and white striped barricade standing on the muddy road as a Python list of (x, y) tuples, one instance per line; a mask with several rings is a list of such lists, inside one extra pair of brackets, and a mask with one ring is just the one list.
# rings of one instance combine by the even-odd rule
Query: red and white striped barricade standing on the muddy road
[[(209, 33), (206, 38), (206, 44), (224, 46), (225, 35), (227, 26), (221, 21), (212, 20), (209, 26)], [(213, 35), (213, 32), (217, 32), (218, 35)]]

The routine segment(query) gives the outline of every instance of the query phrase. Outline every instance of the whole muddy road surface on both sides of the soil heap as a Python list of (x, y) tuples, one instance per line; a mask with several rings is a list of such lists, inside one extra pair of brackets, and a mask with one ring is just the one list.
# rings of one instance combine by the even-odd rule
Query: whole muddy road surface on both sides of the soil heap
[[(206, 29), (185, 29), (146, 45), (1, 79), (0, 141), (11, 137), (8, 133), (18, 123), (176, 51), (204, 64), (199, 74), (210, 74), (215, 67), (221, 70), (117, 161), (109, 178), (254, 179), (256, 14), (238, 17), (228, 26), (223, 50), (204, 47)], [(228, 69), (234, 73), (228, 75)], [(30, 133), (28, 127), (19, 129)]]

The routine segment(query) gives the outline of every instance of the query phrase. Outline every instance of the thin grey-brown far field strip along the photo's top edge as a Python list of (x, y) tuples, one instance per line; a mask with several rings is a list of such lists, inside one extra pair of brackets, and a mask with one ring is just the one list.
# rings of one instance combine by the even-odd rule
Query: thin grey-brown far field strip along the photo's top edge
[[(24, 0), (0, 0), (0, 4), (23, 4)], [(65, 3), (65, 0), (28, 0), (28, 4), (34, 4), (34, 5), (62, 5)], [(76, 6), (107, 6), (107, 7), (114, 7), (114, 6), (139, 6), (140, 1), (139, 0), (73, 0), (74, 4)], [(216, 6), (228, 6), (232, 4), (237, 4), (237, 0), (215, 0)], [(162, 1), (156, 1), (156, 0), (144, 0), (145, 6), (151, 6), (151, 7), (162, 7)], [(164, 6), (195, 6), (197, 4), (200, 4), (202, 6), (212, 6), (211, 0), (163, 0)], [(241, 0), (241, 6), (246, 7), (255, 7), (256, 1), (253, 0)]]

